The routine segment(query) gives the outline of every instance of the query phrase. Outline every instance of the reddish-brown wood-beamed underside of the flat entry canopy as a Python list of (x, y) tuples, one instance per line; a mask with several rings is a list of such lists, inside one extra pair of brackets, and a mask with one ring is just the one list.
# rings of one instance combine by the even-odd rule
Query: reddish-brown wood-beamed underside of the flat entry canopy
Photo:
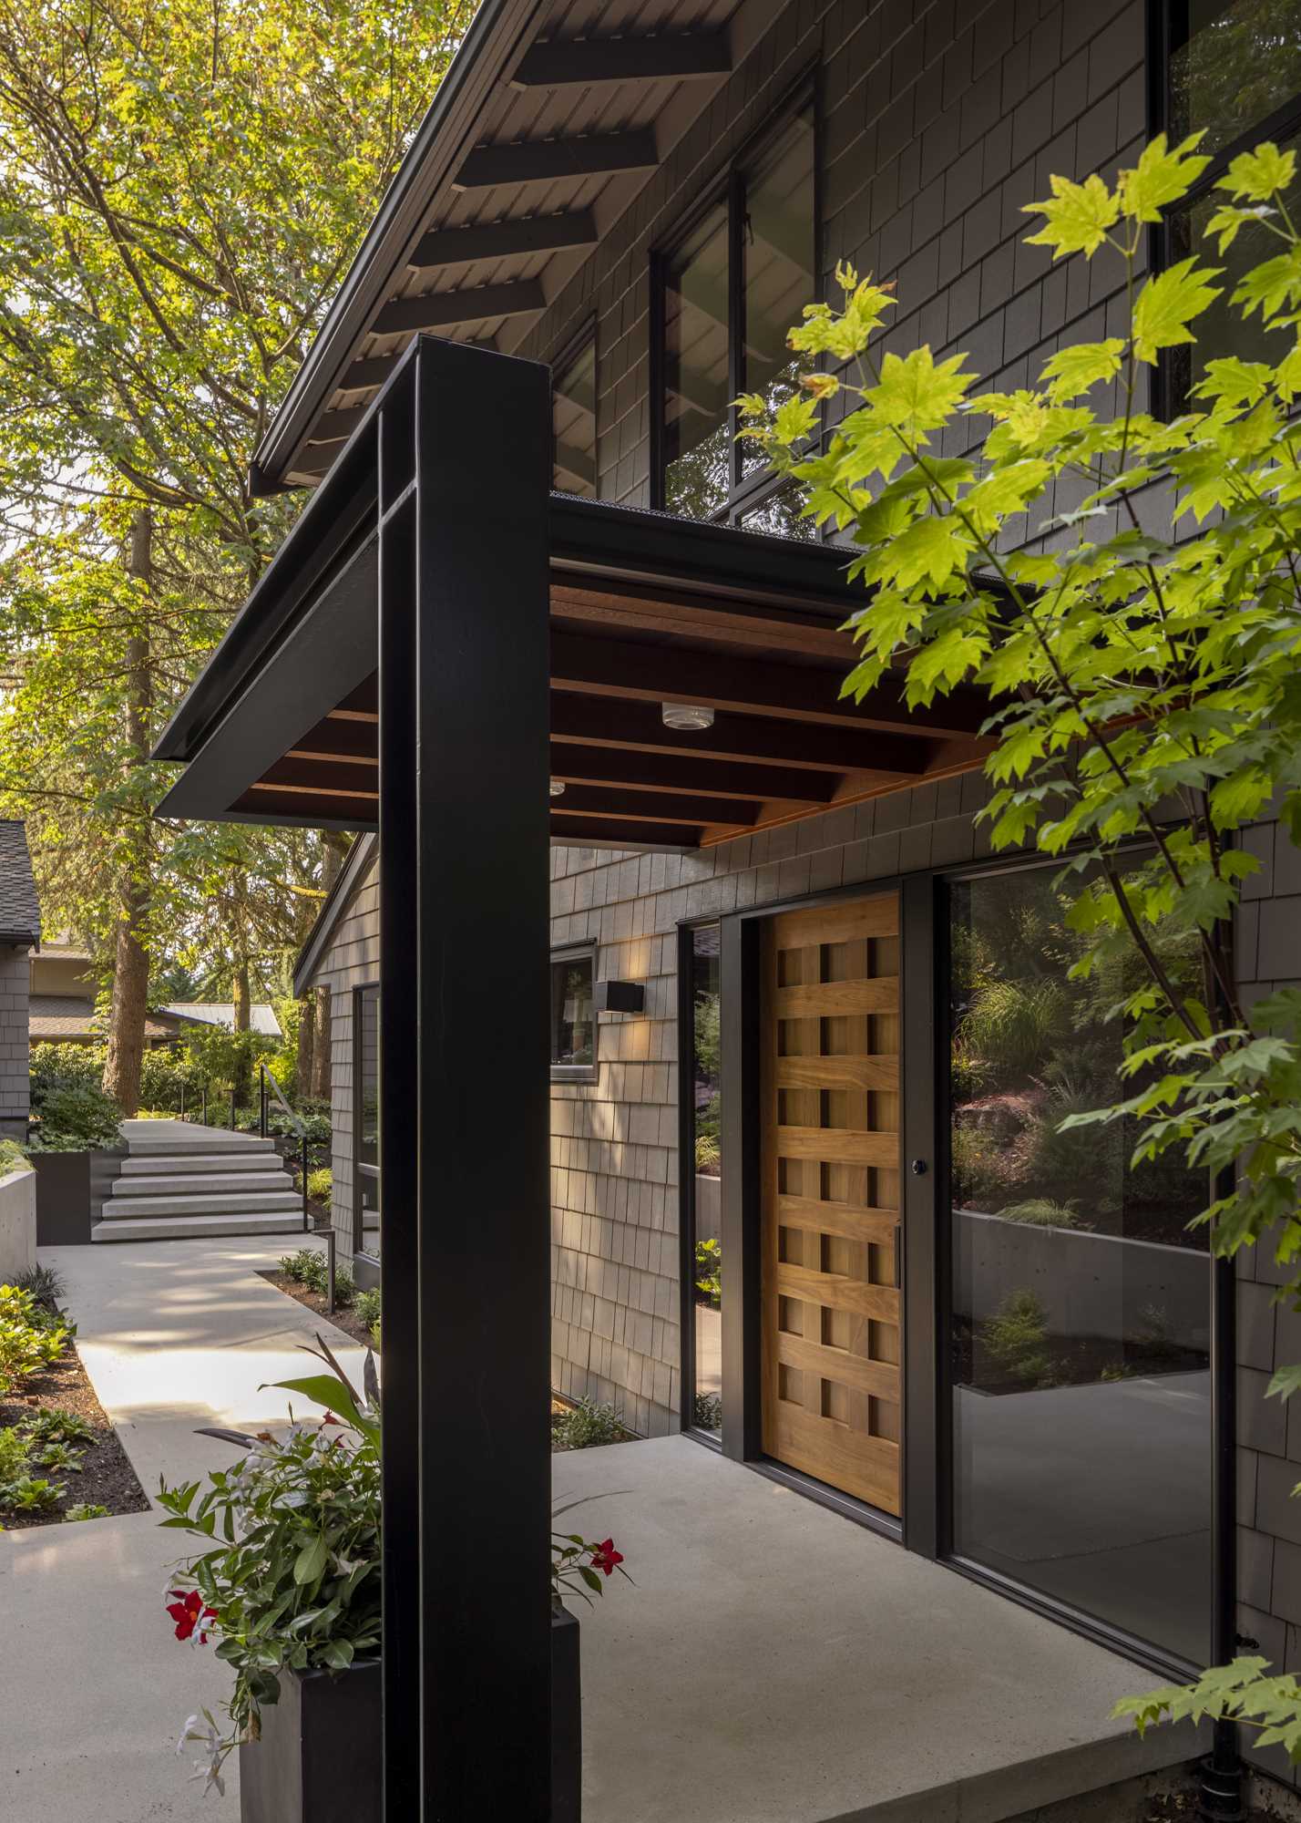
[[(552, 582), (552, 839), (698, 848), (980, 766), (982, 696), (931, 711), (887, 680), (840, 696), (853, 644), (836, 623), (762, 603), (603, 578)], [(711, 707), (671, 729), (663, 702)], [(379, 695), (372, 676), (286, 747), (231, 806), (259, 820), (375, 828)]]

